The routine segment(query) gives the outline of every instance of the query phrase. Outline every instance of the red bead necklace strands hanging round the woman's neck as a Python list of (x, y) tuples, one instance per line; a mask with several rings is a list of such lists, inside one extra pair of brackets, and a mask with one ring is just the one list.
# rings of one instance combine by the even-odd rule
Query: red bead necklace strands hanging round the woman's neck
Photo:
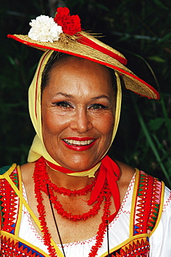
[[(42, 157), (39, 160), (37, 160), (35, 163), (35, 171), (33, 174), (33, 179), (35, 182), (35, 197), (38, 201), (37, 208), (39, 213), (40, 225), (42, 226), (44, 244), (47, 245), (47, 249), (51, 257), (56, 257), (56, 251), (54, 249), (54, 246), (51, 245), (51, 234), (49, 233), (49, 229), (47, 228), (46, 212), (44, 209), (42, 192), (45, 192), (47, 195), (50, 194), (50, 201), (54, 204), (54, 208), (56, 208), (57, 212), (59, 212), (60, 215), (62, 215), (67, 219), (72, 219), (74, 221), (80, 220), (80, 219), (86, 220), (88, 219), (88, 217), (96, 215), (99, 209), (95, 210), (95, 208), (100, 208), (102, 201), (105, 199), (104, 214), (101, 217), (101, 224), (99, 224), (99, 229), (97, 231), (96, 242), (95, 242), (95, 245), (92, 246), (92, 249), (90, 250), (90, 254), (88, 255), (88, 257), (95, 257), (97, 255), (97, 251), (99, 247), (101, 247), (102, 242), (104, 240), (104, 233), (106, 231), (108, 217), (110, 216), (109, 207), (111, 206), (111, 190), (108, 188), (107, 183), (104, 183), (104, 186), (99, 194), (97, 204), (95, 204), (92, 207), (92, 209), (90, 209), (91, 212), (89, 210), (88, 213), (83, 213), (83, 215), (72, 215), (71, 213), (67, 213), (65, 212), (65, 210), (63, 210), (63, 207), (61, 206), (59, 201), (57, 201), (57, 197), (54, 196), (53, 190), (54, 188), (56, 188), (56, 186), (54, 187), (54, 184), (51, 183), (51, 181), (49, 180), (49, 176), (46, 172), (45, 160)], [(49, 188), (49, 192), (47, 190), (47, 185)], [(93, 185), (94, 183), (91, 184), (92, 187)], [(64, 188), (64, 191), (65, 191), (65, 188)], [(79, 191), (78, 192), (79, 195), (81, 195), (80, 193), (82, 193), (81, 190), (73, 190), (74, 195), (75, 195), (75, 191)], [(87, 188), (87, 187), (83, 188), (83, 191), (87, 193), (90, 191), (90, 188)], [(61, 192), (61, 193), (65, 194), (65, 192)]]

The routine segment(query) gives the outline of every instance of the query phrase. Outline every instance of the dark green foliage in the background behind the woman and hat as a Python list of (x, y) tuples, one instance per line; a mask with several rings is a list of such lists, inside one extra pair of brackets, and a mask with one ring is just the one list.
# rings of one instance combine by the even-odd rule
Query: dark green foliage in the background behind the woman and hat
[(111, 156), (144, 169), (171, 185), (171, 76), (170, 0), (56, 0), (5, 1), (1, 6), (1, 166), (26, 162), (34, 130), (27, 90), (40, 51), (6, 38), (26, 34), (29, 22), (40, 14), (56, 13), (67, 6), (81, 17), (82, 28), (102, 33), (101, 41), (121, 51), (128, 67), (153, 85), (158, 101), (123, 92), (122, 116)]

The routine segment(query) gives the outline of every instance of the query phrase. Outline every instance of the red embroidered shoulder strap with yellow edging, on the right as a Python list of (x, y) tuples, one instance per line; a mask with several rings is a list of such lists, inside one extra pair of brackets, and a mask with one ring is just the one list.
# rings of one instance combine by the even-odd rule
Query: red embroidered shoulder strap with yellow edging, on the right
[(133, 222), (131, 233), (150, 234), (163, 208), (163, 183), (140, 171), (136, 175), (135, 187), (137, 193), (131, 209), (131, 222)]

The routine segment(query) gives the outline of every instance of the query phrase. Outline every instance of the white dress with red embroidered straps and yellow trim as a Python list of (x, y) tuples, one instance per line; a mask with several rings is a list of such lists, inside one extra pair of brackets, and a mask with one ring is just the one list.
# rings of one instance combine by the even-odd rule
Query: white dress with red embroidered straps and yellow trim
[[(19, 166), (3, 167), (0, 176), (1, 256), (49, 256), (31, 222), (40, 222), (27, 204)], [(98, 257), (171, 256), (171, 192), (161, 181), (136, 169), (115, 219), (109, 224)], [(63, 256), (60, 245), (55, 246)], [(95, 237), (64, 244), (67, 257), (88, 257)], [(60, 250), (59, 250), (60, 249)], [(59, 254), (58, 254), (59, 256)]]

